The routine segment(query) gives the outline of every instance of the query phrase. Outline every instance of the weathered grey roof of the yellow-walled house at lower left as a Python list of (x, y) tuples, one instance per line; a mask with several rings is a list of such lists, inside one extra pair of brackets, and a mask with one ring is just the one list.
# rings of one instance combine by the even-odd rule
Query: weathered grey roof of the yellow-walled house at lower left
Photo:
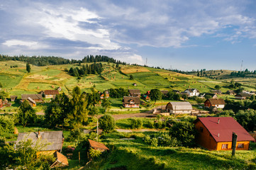
[[(41, 135), (41, 140), (43, 142), (50, 143), (50, 145), (48, 145), (46, 148), (43, 148), (43, 150), (61, 150), (62, 149), (62, 139), (64, 138), (62, 131), (40, 132), (40, 135)], [(35, 142), (38, 140), (38, 132), (18, 133), (16, 144), (26, 139), (31, 139), (35, 144)]]

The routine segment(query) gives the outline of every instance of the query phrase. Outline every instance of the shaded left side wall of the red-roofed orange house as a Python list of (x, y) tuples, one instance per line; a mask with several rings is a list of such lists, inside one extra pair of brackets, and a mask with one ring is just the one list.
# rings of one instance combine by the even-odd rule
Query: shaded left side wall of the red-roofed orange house
[(210, 132), (206, 129), (203, 123), (201, 123), (201, 121), (198, 121), (195, 124), (195, 127), (196, 131), (198, 132), (196, 135), (196, 143), (201, 147), (205, 147), (210, 150), (216, 150), (217, 142), (211, 136)]

